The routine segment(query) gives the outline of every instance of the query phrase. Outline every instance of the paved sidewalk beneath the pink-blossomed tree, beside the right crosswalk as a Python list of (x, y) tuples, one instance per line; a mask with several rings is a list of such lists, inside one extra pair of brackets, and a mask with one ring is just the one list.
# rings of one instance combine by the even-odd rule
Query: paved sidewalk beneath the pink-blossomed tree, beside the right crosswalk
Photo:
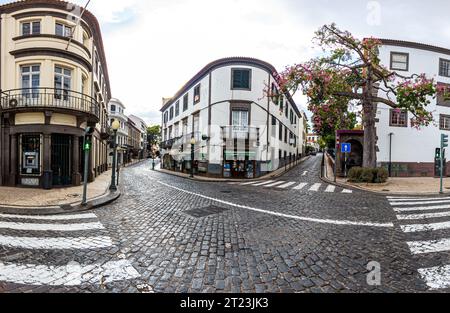
[[(327, 167), (325, 171), (326, 177), (324, 179), (333, 182), (332, 161), (327, 160), (325, 163)], [(439, 193), (440, 189), (440, 179), (432, 177), (392, 177), (385, 184), (355, 184), (349, 183), (347, 179), (337, 178), (336, 184), (341, 187), (394, 195), (435, 195)], [(444, 193), (450, 194), (450, 178), (444, 179)]]

